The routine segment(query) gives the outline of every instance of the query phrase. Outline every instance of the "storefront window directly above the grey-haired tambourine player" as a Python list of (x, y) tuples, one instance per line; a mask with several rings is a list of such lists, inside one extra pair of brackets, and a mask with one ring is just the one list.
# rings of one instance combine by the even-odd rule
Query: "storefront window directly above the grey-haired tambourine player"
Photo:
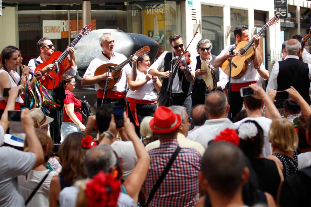
[(224, 11), (223, 7), (201, 5), (202, 38), (211, 40), (212, 54), (219, 55), (224, 48)]

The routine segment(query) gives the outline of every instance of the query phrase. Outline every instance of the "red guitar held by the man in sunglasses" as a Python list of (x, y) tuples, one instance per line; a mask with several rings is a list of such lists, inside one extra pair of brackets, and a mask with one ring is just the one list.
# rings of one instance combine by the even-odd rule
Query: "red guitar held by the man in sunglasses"
[[(83, 35), (87, 34), (89, 31), (91, 31), (92, 25), (87, 24), (84, 28), (81, 29), (80, 33), (77, 35), (77, 37), (70, 43), (69, 46), (74, 47), (79, 40), (82, 38)], [(49, 60), (45, 61), (44, 63), (41, 63), (38, 65), (35, 69), (35, 72), (37, 70), (42, 70), (46, 65), (54, 64), (54, 62), (57, 60), (59, 65), (59, 74), (57, 72), (56, 79), (55, 79), (55, 86), (59, 84), (59, 80), (62, 80), (63, 73), (68, 70), (71, 66), (70, 61), (67, 57), (68, 55), (68, 49), (61, 53), (59, 51), (54, 51), (52, 55), (50, 56)], [(46, 77), (44, 77), (46, 76)], [(50, 71), (46, 74), (44, 74), (44, 78), (42, 80), (42, 85), (49, 89), (53, 89), (53, 83), (54, 83), (54, 77), (55, 77), (55, 71)]]

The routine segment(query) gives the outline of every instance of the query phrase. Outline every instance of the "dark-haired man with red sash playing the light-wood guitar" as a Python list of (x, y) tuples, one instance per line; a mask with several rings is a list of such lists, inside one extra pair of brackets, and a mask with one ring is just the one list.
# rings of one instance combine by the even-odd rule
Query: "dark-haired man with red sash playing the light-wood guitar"
[[(216, 57), (213, 67), (221, 67), (221, 65), (229, 59), (229, 51), (233, 46), (235, 48), (241, 41), (250, 40), (248, 26), (237, 25), (234, 29), (234, 37), (235, 43), (221, 51), (221, 53)], [(262, 64), (262, 56), (260, 54), (260, 36), (255, 34), (253, 36), (253, 40), (253, 47), (255, 51), (254, 59), (248, 62), (246, 72), (241, 78), (231, 78), (230, 111), (232, 118), (234, 118), (242, 108), (243, 98), (240, 96), (240, 88), (247, 87), (251, 83), (256, 84), (259, 77), (262, 77), (263, 79), (269, 78), (269, 73)], [(237, 55), (239, 55), (239, 51), (234, 49), (232, 57)]]

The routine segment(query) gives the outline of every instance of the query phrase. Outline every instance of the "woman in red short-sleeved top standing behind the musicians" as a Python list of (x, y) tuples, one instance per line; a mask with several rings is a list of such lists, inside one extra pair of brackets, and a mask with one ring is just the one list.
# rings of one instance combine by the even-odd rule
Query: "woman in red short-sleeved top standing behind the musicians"
[(75, 77), (65, 74), (63, 76), (63, 84), (65, 87), (66, 98), (64, 99), (64, 115), (63, 123), (61, 126), (61, 133), (63, 138), (66, 138), (67, 134), (73, 132), (84, 131), (85, 126), (82, 123), (81, 102), (71, 92), (75, 89), (76, 81)]

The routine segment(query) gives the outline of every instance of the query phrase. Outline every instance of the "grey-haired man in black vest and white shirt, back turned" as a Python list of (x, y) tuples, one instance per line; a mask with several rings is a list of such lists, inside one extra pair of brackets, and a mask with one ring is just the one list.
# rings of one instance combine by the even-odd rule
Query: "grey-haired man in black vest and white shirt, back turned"
[[(301, 44), (297, 39), (290, 39), (286, 43), (287, 56), (284, 61), (277, 62), (271, 71), (267, 85), (267, 92), (272, 90), (284, 91), (293, 86), (308, 104), (311, 104), (309, 97), (311, 64), (299, 60), (301, 56)], [(279, 108), (283, 108), (284, 100), (288, 99), (287, 92), (278, 92), (276, 100)]]

